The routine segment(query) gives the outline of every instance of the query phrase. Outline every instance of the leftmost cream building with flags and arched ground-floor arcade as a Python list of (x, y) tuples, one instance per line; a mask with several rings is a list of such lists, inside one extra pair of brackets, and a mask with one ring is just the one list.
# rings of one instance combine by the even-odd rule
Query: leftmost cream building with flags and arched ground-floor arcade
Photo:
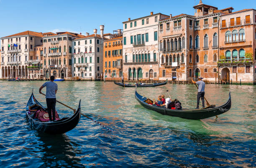
[(29, 77), (28, 66), (38, 64), (39, 59), (33, 59), (34, 46), (43, 44), (42, 33), (24, 31), (1, 40), (1, 77)]

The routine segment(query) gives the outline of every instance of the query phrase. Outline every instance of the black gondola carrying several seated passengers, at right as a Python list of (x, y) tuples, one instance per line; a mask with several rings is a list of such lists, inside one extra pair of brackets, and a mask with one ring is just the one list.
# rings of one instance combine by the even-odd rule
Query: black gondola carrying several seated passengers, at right
[(224, 112), (227, 112), (231, 107), (230, 93), (229, 93), (228, 101), (225, 104), (218, 107), (215, 107), (215, 105), (210, 105), (203, 109), (182, 108), (181, 110), (176, 110), (176, 109), (166, 109), (164, 107), (153, 106), (152, 104), (148, 104), (150, 102), (153, 102), (152, 100), (141, 96), (140, 94), (137, 93), (136, 90), (135, 90), (135, 98), (143, 107), (146, 107), (147, 109), (152, 109), (156, 112), (159, 112), (162, 115), (170, 115), (170, 116), (181, 117), (181, 118), (186, 118), (191, 120), (200, 120), (200, 119), (221, 115)]

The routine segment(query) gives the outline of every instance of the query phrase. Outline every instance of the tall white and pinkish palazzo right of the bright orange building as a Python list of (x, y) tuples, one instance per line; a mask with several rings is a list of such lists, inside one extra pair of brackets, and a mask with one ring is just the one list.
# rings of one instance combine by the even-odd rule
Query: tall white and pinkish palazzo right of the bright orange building
[(158, 21), (161, 13), (123, 22), (123, 75), (128, 80), (159, 79)]

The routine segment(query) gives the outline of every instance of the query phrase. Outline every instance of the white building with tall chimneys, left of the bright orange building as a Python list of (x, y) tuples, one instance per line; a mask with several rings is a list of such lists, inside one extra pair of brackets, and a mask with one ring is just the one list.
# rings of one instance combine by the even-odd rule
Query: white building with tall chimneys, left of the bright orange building
[(74, 76), (81, 79), (100, 79), (103, 73), (103, 35), (104, 25), (100, 25), (100, 35), (97, 29), (94, 34), (72, 40), (72, 63)]

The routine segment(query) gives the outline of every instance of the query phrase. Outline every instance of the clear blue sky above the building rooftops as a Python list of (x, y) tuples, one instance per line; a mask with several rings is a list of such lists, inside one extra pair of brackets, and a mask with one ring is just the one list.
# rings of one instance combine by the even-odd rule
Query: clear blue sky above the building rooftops
[[(256, 9), (255, 0), (202, 0), (218, 9), (232, 6), (235, 10)], [(199, 0), (0, 0), (0, 37), (22, 31), (93, 33), (105, 25), (104, 33), (113, 33), (128, 18), (150, 12), (166, 15), (194, 14)]]

